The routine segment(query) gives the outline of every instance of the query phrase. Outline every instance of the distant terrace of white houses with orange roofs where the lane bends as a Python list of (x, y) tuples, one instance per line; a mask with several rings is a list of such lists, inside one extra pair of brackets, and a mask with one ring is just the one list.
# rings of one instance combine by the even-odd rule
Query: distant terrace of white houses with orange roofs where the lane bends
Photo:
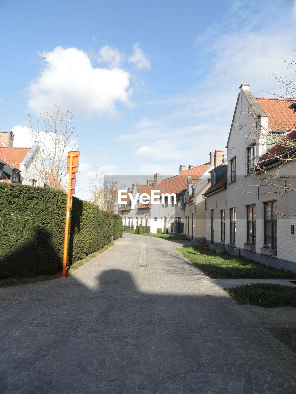
[[(141, 204), (137, 202), (135, 208), (131, 208), (129, 198), (126, 204), (119, 206), (115, 203), (114, 213), (122, 215), (123, 225), (150, 226), (150, 232), (156, 233), (157, 229), (168, 230), (169, 234), (187, 234), (193, 240), (202, 240), (205, 237), (205, 202), (202, 191), (210, 186), (208, 179), (214, 163), (223, 158), (223, 151), (215, 151), (210, 154), (210, 163), (199, 166), (180, 165), (179, 174), (161, 180), (161, 174), (156, 173), (153, 181), (147, 181), (146, 185), (138, 182), (129, 189), (133, 199), (137, 193), (148, 193), (152, 190), (160, 190), (160, 193), (176, 194), (176, 203), (165, 197), (161, 204)], [(194, 187), (191, 188), (191, 183)], [(188, 219), (188, 217), (190, 219)]]

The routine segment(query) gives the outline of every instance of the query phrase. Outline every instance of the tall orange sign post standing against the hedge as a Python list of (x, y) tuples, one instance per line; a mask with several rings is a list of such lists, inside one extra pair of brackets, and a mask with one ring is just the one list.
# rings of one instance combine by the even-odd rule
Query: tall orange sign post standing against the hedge
[(65, 239), (64, 239), (64, 258), (63, 258), (63, 275), (62, 275), (63, 277), (66, 276), (70, 209), (72, 206), (72, 194), (74, 194), (75, 191), (75, 175), (78, 171), (78, 164), (79, 164), (79, 151), (68, 152), (67, 173), (69, 173), (69, 181), (68, 181), (66, 225), (65, 225)]

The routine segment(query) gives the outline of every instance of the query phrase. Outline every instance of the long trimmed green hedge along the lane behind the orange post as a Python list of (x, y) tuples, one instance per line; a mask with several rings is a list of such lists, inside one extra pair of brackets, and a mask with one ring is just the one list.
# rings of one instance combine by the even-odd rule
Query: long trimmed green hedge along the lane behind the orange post
[[(0, 183), (0, 278), (51, 275), (61, 270), (66, 215), (64, 192)], [(73, 197), (68, 264), (122, 235), (122, 219)]]

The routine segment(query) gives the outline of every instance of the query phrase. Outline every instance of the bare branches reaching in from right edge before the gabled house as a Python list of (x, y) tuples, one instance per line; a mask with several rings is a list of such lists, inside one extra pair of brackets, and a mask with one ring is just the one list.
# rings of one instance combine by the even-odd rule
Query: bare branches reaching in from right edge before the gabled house
[[(295, 61), (285, 63), (288, 67), (296, 66)], [(248, 156), (248, 169), (253, 172), (252, 176), (258, 182), (243, 186), (249, 189), (247, 193), (257, 193), (254, 187), (260, 188), (260, 194), (288, 193), (296, 190), (296, 81), (294, 78), (270, 74), (280, 84), (281, 93), (268, 93), (279, 99), (277, 105), (285, 106), (287, 115), (285, 121), (269, 115), (266, 117), (258, 104), (260, 100), (253, 95), (249, 97), (251, 106), (243, 108), (250, 121), (245, 125), (236, 126), (248, 126), (247, 145), (251, 146), (253, 143), (257, 147), (257, 155), (250, 152), (250, 157)], [(250, 189), (251, 186), (253, 191)]]

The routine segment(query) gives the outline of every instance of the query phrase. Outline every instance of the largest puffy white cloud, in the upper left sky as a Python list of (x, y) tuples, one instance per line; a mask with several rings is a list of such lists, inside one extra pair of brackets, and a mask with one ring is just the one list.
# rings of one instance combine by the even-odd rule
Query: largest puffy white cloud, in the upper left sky
[(88, 56), (77, 48), (61, 46), (43, 54), (46, 64), (41, 76), (28, 87), (28, 106), (39, 113), (54, 108), (92, 116), (115, 115), (116, 103), (129, 101), (130, 74), (122, 69), (94, 68)]

